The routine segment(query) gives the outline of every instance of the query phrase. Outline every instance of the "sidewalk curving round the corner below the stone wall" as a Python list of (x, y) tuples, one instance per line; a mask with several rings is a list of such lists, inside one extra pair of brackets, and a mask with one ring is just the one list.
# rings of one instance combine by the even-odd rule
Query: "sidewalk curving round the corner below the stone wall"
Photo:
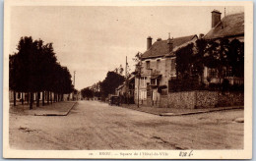
[(180, 116), (180, 115), (193, 115), (215, 111), (224, 111), (232, 109), (243, 109), (243, 106), (231, 106), (231, 107), (215, 107), (215, 108), (201, 108), (201, 109), (178, 109), (178, 108), (157, 108), (141, 106), (138, 108), (135, 104), (122, 104), (121, 107), (141, 112), (146, 112), (159, 116)]

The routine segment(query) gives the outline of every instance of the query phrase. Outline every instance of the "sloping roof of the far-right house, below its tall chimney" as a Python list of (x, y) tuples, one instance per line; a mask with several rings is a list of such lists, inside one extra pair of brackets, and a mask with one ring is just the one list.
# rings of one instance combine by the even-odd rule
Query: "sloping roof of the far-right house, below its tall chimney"
[(244, 34), (244, 13), (225, 16), (222, 21), (213, 27), (205, 39), (215, 39)]

